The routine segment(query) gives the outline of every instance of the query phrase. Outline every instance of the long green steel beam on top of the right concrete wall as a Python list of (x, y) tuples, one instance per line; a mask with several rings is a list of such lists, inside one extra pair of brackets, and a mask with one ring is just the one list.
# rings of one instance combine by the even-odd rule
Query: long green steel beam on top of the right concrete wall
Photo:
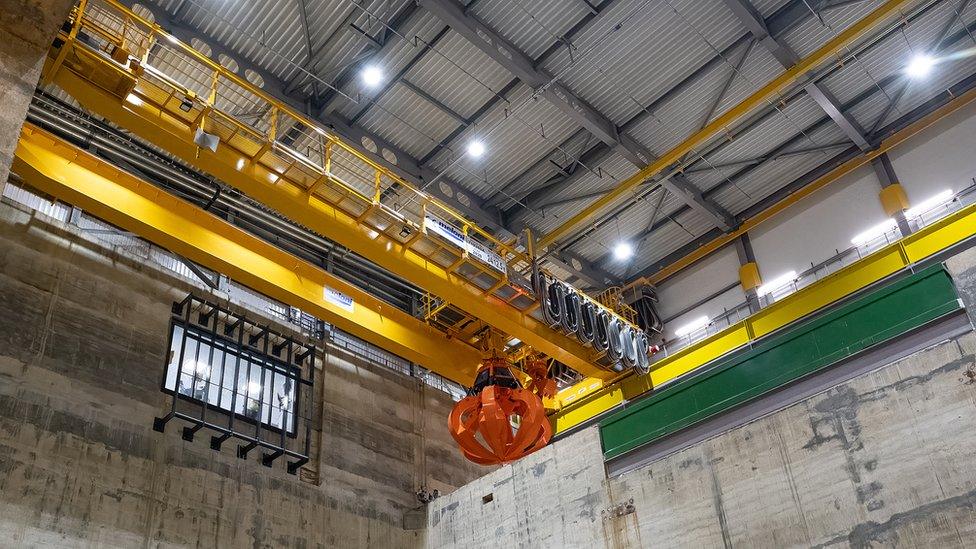
[(620, 456), (745, 404), (958, 308), (942, 265), (891, 282), (607, 416), (600, 422), (604, 456)]

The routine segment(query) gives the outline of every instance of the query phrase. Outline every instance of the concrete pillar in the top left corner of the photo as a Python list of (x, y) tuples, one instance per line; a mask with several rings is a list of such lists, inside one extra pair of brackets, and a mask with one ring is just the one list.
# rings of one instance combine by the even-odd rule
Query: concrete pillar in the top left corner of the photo
[(34, 86), (73, 0), (4, 0), (0, 9), (0, 190), (27, 118)]

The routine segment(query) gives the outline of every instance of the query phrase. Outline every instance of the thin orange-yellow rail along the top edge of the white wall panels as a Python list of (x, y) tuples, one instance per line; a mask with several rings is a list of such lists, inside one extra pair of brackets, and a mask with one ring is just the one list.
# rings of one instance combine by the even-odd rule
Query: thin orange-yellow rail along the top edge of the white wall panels
[(902, 143), (904, 143), (911, 137), (917, 135), (919, 132), (925, 130), (932, 124), (935, 124), (939, 120), (942, 120), (946, 116), (949, 116), (950, 114), (958, 111), (959, 109), (965, 107), (966, 105), (969, 105), (970, 103), (973, 102), (973, 100), (976, 100), (976, 88), (971, 89), (966, 93), (954, 97), (952, 100), (947, 102), (942, 107), (932, 111), (931, 113), (920, 118), (914, 123), (909, 124), (905, 128), (895, 132), (890, 137), (884, 139), (877, 149), (874, 149), (872, 151), (864, 153), (861, 156), (852, 158), (847, 162), (844, 162), (843, 164), (837, 166), (830, 172), (812, 181), (810, 184), (803, 187), (802, 189), (797, 190), (796, 192), (787, 196), (783, 200), (780, 200), (779, 202), (773, 204), (769, 208), (766, 208), (765, 210), (759, 212), (758, 214), (743, 221), (742, 225), (740, 225), (739, 228), (736, 229), (735, 231), (732, 231), (731, 233), (715, 238), (714, 240), (698, 247), (693, 252), (682, 257), (678, 261), (675, 261), (674, 263), (654, 273), (654, 275), (638, 279), (633, 283), (631, 283), (630, 285), (628, 285), (627, 287), (629, 288), (635, 284), (643, 284), (643, 283), (660, 284), (661, 282), (681, 272), (687, 267), (690, 267), (691, 265), (695, 264), (701, 259), (709, 256), (713, 252), (721, 249), (722, 247), (734, 241), (735, 239), (739, 238), (743, 234), (748, 233), (749, 231), (755, 229), (759, 225), (783, 213), (790, 206), (816, 193), (820, 189), (837, 181), (838, 179), (841, 179), (845, 175), (852, 173), (858, 168), (867, 165), (875, 158), (901, 145)]

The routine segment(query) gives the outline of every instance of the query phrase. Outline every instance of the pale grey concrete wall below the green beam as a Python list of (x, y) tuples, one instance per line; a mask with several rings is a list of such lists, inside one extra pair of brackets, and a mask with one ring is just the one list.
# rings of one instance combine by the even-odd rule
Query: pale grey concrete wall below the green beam
[(968, 332), (612, 479), (591, 427), (434, 502), (428, 546), (972, 547), (974, 380)]

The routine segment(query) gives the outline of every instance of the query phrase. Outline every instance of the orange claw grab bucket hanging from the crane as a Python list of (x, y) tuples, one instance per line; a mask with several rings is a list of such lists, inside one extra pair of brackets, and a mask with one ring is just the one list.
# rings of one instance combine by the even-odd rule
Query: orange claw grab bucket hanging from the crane
[[(555, 389), (555, 382), (547, 381), (552, 382), (533, 377), (530, 385), (540, 393)], [(482, 363), (471, 395), (454, 406), (448, 425), (464, 456), (481, 465), (514, 461), (543, 448), (552, 438), (542, 398), (523, 389), (505, 359), (498, 357)]]

